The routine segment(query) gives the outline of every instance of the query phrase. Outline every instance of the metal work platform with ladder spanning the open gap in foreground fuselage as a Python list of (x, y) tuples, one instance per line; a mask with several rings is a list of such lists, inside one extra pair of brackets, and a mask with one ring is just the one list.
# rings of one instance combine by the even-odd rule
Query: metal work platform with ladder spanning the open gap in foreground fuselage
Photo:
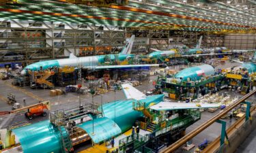
[(75, 126), (76, 120), (83, 120), (88, 116), (102, 117), (102, 107), (91, 103), (77, 105), (69, 109), (58, 109), (50, 113), (50, 122), (57, 127), (61, 137), (63, 152), (71, 152), (74, 145), (90, 139), (89, 135)]

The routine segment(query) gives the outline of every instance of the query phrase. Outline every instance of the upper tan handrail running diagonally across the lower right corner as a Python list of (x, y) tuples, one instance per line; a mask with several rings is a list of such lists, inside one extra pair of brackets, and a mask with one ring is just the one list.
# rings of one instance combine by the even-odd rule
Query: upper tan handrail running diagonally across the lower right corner
[(227, 114), (229, 111), (231, 111), (231, 109), (233, 109), (234, 107), (238, 106), (240, 103), (242, 103), (243, 101), (248, 99), (248, 97), (251, 97), (253, 94), (255, 94), (255, 92), (256, 92), (256, 90), (253, 90), (253, 91), (249, 92), (248, 94), (244, 95), (244, 97), (242, 97), (241, 99), (237, 100), (232, 105), (229, 105), (228, 107), (226, 107), (223, 112), (220, 112), (219, 114), (216, 114), (214, 117), (210, 118), (210, 120), (204, 122), (197, 129), (191, 131), (190, 133), (188, 133), (188, 135), (185, 135), (184, 137), (182, 137), (181, 139), (179, 139), (178, 141), (173, 143), (171, 146), (167, 147), (162, 152), (163, 153), (165, 153), (165, 152), (174, 152), (175, 150), (177, 150), (177, 148), (179, 148), (184, 143), (186, 143), (186, 141), (189, 141), (190, 139), (195, 137), (197, 134), (201, 133), (201, 131), (203, 131), (208, 126), (210, 126), (211, 124), (216, 122), (216, 120), (218, 120), (219, 118), (221, 118), (222, 116)]

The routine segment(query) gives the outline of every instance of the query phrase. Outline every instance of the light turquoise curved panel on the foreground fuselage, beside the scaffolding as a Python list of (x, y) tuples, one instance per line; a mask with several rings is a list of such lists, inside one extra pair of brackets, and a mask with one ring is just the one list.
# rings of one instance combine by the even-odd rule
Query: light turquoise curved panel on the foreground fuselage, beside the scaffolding
[(122, 133), (119, 126), (109, 118), (96, 118), (77, 126), (85, 130), (95, 143), (111, 139), (111, 137)]

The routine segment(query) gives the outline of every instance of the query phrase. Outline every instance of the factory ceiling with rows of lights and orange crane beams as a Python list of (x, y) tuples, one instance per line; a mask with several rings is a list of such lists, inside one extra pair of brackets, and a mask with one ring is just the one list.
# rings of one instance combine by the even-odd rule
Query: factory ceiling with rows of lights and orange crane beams
[[(72, 2), (72, 3), (70, 3)], [(255, 0), (129, 0), (91, 6), (75, 0), (0, 0), (0, 18), (163, 27), (190, 31), (256, 31)]]

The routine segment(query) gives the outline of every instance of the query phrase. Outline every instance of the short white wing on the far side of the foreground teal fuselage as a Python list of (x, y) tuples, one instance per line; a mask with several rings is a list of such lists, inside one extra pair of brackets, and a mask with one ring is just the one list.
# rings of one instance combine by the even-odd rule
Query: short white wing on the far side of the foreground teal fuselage
[(134, 88), (130, 84), (122, 84), (122, 88), (124, 91), (124, 95), (126, 95), (126, 99), (135, 99), (139, 101), (147, 97), (141, 91), (139, 91), (137, 88)]

